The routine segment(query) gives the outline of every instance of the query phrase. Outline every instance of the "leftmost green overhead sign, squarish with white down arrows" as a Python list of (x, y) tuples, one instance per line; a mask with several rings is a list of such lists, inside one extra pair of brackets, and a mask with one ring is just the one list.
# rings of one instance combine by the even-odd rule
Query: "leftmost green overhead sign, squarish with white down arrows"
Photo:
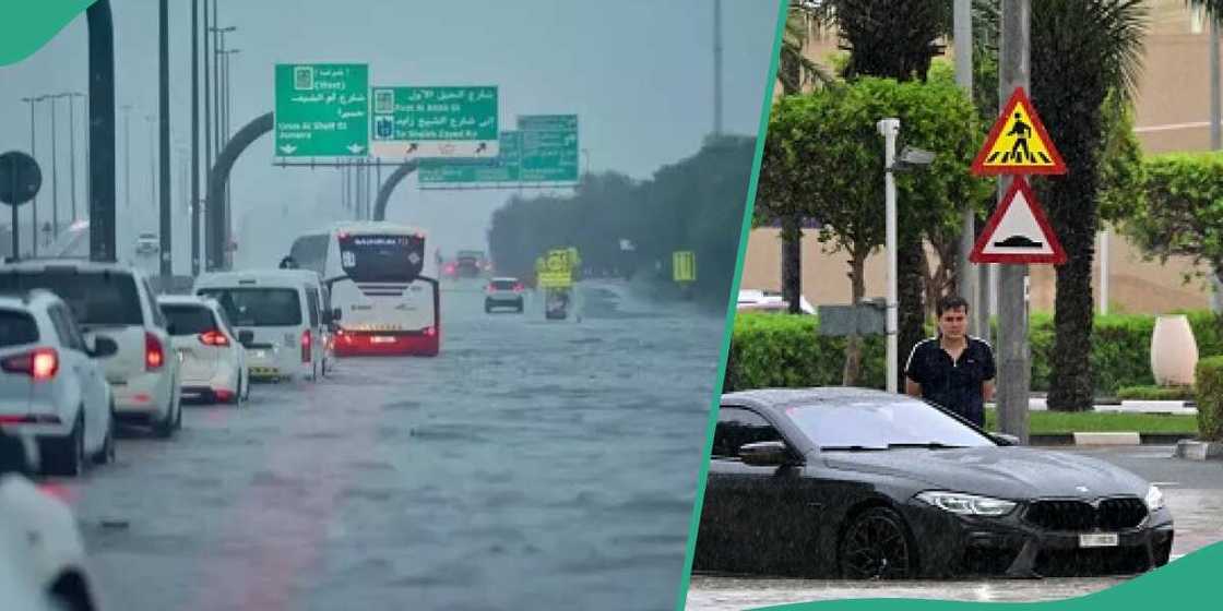
[(369, 153), (369, 67), (364, 64), (278, 64), (279, 156), (364, 156)]

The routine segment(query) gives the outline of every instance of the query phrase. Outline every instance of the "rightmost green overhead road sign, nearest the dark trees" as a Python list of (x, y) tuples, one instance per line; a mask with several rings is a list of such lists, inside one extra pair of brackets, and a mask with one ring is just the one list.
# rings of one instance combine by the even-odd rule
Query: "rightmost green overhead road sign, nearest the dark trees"
[(522, 182), (577, 182), (577, 115), (521, 115)]

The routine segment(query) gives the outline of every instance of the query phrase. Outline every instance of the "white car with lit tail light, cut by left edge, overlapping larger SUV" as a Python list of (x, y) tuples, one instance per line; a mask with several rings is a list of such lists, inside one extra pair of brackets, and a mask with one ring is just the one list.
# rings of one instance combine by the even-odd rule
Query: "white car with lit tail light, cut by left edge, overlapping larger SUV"
[(115, 456), (114, 401), (95, 359), (117, 346), (102, 336), (94, 342), (89, 348), (50, 292), (0, 296), (0, 425), (37, 436), (43, 467), (56, 475)]

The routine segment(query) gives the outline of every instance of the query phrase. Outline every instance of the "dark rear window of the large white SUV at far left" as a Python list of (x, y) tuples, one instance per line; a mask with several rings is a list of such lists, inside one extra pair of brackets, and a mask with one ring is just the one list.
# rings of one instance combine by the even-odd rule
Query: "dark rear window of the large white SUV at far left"
[(139, 293), (130, 274), (46, 269), (0, 273), (0, 291), (45, 288), (72, 308), (82, 325), (143, 325)]

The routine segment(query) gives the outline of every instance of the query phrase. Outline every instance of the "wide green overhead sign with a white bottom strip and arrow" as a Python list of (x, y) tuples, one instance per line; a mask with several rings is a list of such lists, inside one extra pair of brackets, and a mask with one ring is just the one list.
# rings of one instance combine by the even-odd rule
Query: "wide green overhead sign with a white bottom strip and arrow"
[(374, 156), (498, 154), (497, 87), (374, 87), (371, 95)]

